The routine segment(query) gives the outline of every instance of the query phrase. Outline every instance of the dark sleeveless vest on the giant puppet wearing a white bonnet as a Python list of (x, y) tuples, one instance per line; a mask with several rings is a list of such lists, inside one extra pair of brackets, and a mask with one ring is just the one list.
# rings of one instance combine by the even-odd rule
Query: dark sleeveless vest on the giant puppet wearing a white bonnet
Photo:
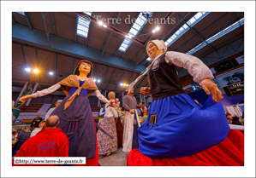
[(152, 100), (172, 95), (185, 94), (176, 73), (176, 66), (165, 61), (165, 54), (154, 62), (147, 76), (152, 91)]

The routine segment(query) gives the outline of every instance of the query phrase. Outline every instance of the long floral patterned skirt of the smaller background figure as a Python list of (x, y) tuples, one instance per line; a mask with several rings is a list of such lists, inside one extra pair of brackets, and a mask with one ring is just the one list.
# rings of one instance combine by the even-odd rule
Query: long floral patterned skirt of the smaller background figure
[(98, 130), (98, 154), (104, 155), (110, 152), (115, 152), (117, 150), (115, 118), (104, 118), (100, 123), (100, 127), (114, 138), (111, 139), (108, 135), (105, 135), (102, 131)]

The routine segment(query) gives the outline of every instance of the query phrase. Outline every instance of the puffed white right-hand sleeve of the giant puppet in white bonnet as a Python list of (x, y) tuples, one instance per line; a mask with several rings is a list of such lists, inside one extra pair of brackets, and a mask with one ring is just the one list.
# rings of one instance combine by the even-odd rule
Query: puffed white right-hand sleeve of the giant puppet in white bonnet
[(183, 67), (188, 70), (189, 74), (193, 77), (193, 81), (199, 83), (205, 78), (213, 79), (213, 75), (208, 66), (193, 55), (186, 55), (179, 52), (169, 51), (165, 55), (165, 61), (168, 64)]

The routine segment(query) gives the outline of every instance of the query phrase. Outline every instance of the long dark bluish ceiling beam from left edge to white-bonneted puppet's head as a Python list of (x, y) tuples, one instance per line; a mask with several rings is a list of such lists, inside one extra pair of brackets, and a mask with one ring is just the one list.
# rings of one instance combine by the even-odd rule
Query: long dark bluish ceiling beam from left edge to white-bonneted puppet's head
[[(77, 58), (91, 60), (92, 62), (100, 63), (103, 65), (114, 66), (130, 72), (140, 73), (146, 68), (144, 65), (136, 66), (136, 62), (132, 60), (123, 59), (118, 56), (110, 55), (106, 52), (104, 53), (101, 60), (99, 60), (102, 52), (98, 49), (85, 47), (80, 43), (74, 43), (67, 39), (63, 39), (62, 37), (45, 37), (45, 32), (40, 32), (35, 29), (30, 30), (27, 26), (22, 26), (17, 23), (12, 26), (12, 37), (14, 42), (26, 43), (41, 49), (47, 49), (69, 56), (72, 55)], [(51, 46), (48, 45), (50, 40)]]

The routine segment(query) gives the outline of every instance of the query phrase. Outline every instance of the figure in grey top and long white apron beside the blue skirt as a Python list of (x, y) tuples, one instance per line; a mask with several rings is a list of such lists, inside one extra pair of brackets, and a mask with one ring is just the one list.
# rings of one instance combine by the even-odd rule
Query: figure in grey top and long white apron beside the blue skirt
[(140, 120), (136, 110), (137, 100), (133, 94), (134, 88), (130, 89), (128, 95), (123, 97), (123, 106), (125, 110), (122, 137), (123, 152), (130, 152), (132, 149), (139, 147), (137, 129), (140, 127)]

